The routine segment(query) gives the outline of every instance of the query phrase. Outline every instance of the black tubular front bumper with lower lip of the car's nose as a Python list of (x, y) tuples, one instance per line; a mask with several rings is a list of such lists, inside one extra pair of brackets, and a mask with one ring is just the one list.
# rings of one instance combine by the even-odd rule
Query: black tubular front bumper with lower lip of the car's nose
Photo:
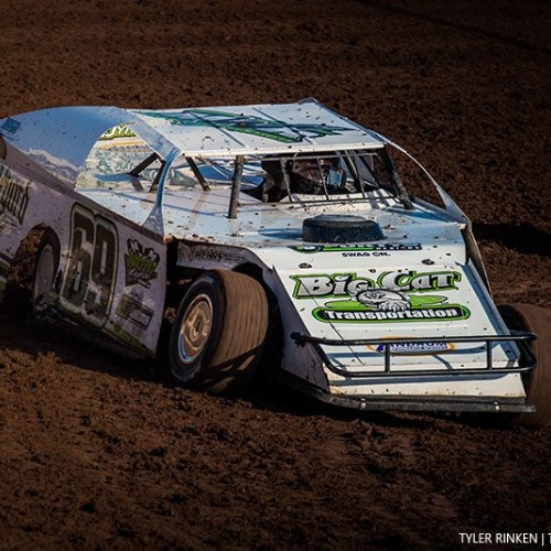
[[(324, 367), (334, 375), (349, 381), (350, 385), (358, 388), (361, 385), (374, 381), (386, 381), (391, 387), (392, 382), (400, 385), (401, 381), (414, 381), (415, 387), (420, 390), (417, 393), (408, 392), (408, 387), (390, 388), (380, 393), (377, 392), (343, 392), (342, 388), (329, 386), (328, 389), (320, 388), (305, 381), (302, 378), (285, 377), (285, 382), (300, 389), (323, 402), (338, 407), (352, 408), (363, 411), (432, 411), (432, 412), (508, 412), (508, 413), (527, 413), (536, 410), (534, 406), (527, 401), (525, 396), (512, 395), (506, 392), (503, 388), (498, 388), (495, 382), (504, 377), (516, 375), (526, 376), (536, 365), (536, 357), (529, 346), (529, 343), (537, 338), (533, 333), (528, 332), (510, 332), (507, 335), (494, 336), (450, 336), (439, 337), (439, 343), (468, 343), (484, 348), (486, 361), (477, 367), (450, 367), (447, 368), (407, 368), (403, 366), (393, 365), (393, 356), (399, 353), (393, 352), (398, 345), (398, 349), (402, 345), (423, 345), (434, 343), (434, 338), (385, 338), (385, 339), (327, 339), (318, 338), (311, 335), (292, 333), (291, 338), (299, 345), (313, 346)], [(511, 343), (518, 347), (518, 361), (515, 365), (507, 367), (496, 367), (493, 357), (493, 346), (498, 346), (500, 343)], [(380, 365), (374, 366), (370, 370), (348, 370), (343, 366), (338, 366), (331, 361), (324, 352), (324, 346), (381, 346)], [(434, 353), (435, 355), (436, 353)], [(440, 354), (452, 354), (439, 352)], [(429, 353), (426, 353), (429, 355)], [(473, 391), (465, 391), (465, 387), (461, 393), (444, 393), (434, 392), (431, 389), (431, 382), (434, 380), (450, 381), (450, 387), (457, 387), (467, 381), (474, 383), (476, 381), (486, 381), (489, 383), (489, 392), (483, 393), (473, 387)], [(519, 381), (520, 383), (520, 381)], [(477, 385), (478, 387), (479, 385)], [(411, 387), (410, 387), (411, 389)], [(424, 389), (424, 390), (423, 390)], [(521, 389), (521, 387), (520, 387)], [(494, 391), (491, 391), (494, 390)], [(501, 391), (501, 393), (500, 393)]]

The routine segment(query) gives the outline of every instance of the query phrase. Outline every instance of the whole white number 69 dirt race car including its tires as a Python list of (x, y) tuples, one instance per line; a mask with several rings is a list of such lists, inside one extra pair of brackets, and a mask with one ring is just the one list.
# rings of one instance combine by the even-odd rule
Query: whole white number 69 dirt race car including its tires
[(0, 120), (6, 304), (18, 278), (34, 316), (212, 392), (270, 365), (337, 406), (551, 420), (549, 314), (497, 309), (450, 196), (315, 100)]

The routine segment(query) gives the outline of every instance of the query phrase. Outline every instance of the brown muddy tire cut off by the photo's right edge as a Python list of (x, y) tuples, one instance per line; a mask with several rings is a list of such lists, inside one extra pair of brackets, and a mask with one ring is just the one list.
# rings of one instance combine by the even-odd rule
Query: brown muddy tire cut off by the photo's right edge
[(499, 312), (510, 329), (538, 335), (530, 344), (538, 365), (525, 377), (527, 399), (536, 406), (536, 412), (518, 415), (515, 424), (545, 429), (551, 423), (551, 312), (531, 304), (507, 304)]

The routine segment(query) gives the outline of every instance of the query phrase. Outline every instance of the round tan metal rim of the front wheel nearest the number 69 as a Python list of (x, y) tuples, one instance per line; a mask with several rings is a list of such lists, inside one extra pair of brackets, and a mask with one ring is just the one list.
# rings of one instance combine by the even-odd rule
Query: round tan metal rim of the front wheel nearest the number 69
[(213, 303), (206, 294), (193, 299), (182, 317), (177, 355), (182, 364), (193, 364), (203, 354), (213, 328)]

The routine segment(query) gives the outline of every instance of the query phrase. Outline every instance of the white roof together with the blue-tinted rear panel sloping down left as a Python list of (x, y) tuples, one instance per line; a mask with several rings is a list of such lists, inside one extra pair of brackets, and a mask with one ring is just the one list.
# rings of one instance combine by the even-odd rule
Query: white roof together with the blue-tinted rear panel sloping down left
[(0, 119), (0, 134), (68, 184), (98, 139), (126, 127), (163, 159), (381, 148), (387, 139), (313, 99), (182, 109), (57, 107)]

